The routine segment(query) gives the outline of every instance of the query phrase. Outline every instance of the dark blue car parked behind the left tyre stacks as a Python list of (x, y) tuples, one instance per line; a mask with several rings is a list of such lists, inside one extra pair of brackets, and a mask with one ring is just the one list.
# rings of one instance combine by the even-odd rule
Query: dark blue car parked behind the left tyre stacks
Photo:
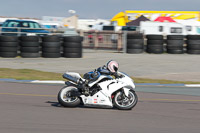
[(29, 20), (6, 20), (1, 29), (2, 35), (48, 35), (50, 32), (41, 25)]

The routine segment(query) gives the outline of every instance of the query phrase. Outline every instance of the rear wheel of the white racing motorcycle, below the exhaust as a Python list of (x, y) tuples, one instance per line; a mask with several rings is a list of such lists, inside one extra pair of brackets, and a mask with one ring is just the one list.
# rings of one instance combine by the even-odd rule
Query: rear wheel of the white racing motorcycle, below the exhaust
[(58, 102), (64, 107), (76, 107), (80, 104), (80, 99), (73, 96), (72, 92), (78, 91), (74, 86), (66, 86), (58, 93)]

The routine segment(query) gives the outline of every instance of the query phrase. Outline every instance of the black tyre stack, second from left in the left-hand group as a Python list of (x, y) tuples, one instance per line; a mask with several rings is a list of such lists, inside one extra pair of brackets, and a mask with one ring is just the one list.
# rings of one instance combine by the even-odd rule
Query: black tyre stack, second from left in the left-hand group
[(21, 36), (20, 37), (20, 55), (23, 58), (40, 57), (40, 43), (38, 36)]

